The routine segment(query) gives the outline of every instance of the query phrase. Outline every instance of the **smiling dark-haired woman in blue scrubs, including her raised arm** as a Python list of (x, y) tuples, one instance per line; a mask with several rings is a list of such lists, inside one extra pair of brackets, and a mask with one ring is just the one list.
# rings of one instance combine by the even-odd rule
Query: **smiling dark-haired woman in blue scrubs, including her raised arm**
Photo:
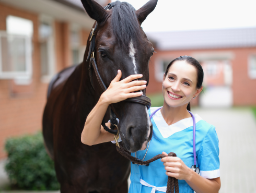
[[(113, 140), (113, 135), (104, 131), (101, 121), (109, 104), (142, 95), (134, 92), (145, 89), (146, 81), (132, 81), (142, 75), (132, 75), (121, 81), (121, 71), (102, 93), (99, 102), (88, 115), (82, 133), (82, 142), (88, 145)], [(220, 189), (219, 149), (215, 127), (198, 115), (196, 122), (196, 162), (200, 175), (191, 170), (193, 157), (193, 120), (188, 112), (190, 100), (202, 91), (203, 69), (196, 59), (180, 56), (167, 67), (162, 80), (164, 105), (151, 107), (149, 115), (155, 112), (151, 121), (153, 137), (148, 150), (132, 153), (137, 158), (149, 160), (162, 153), (175, 152), (177, 157), (166, 157), (145, 165), (131, 165), (129, 192), (166, 191), (168, 176), (179, 179), (180, 192), (214, 193)], [(188, 110), (187, 110), (188, 109)], [(97, 116), (96, 116), (97, 115)], [(90, 125), (90, 127), (89, 127)], [(110, 126), (110, 123), (108, 123)], [(147, 151), (147, 153), (146, 153)], [(167, 153), (166, 153), (167, 152)]]

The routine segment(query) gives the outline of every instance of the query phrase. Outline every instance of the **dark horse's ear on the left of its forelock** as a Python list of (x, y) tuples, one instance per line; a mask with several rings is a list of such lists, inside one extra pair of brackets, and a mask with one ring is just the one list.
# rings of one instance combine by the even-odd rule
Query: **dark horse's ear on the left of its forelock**
[(106, 20), (108, 13), (94, 0), (81, 0), (87, 14), (99, 24)]

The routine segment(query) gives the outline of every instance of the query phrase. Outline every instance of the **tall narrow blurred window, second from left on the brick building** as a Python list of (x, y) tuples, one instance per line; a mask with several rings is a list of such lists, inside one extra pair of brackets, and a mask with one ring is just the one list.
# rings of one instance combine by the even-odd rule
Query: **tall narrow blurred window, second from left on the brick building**
[(39, 38), (41, 81), (47, 83), (55, 74), (53, 22), (50, 17), (40, 16)]

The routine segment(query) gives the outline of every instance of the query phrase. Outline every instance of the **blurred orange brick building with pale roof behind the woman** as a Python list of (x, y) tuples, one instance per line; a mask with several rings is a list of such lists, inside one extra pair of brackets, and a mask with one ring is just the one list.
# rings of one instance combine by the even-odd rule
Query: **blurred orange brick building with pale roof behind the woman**
[(204, 90), (192, 104), (256, 105), (256, 28), (147, 33), (157, 49), (149, 63), (147, 93), (161, 92), (172, 59), (189, 55), (204, 69)]

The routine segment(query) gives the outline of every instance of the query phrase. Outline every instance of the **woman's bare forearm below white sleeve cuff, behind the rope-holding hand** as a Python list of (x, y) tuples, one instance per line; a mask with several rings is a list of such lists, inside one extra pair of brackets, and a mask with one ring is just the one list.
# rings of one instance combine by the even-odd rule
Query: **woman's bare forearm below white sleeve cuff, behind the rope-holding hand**
[(220, 189), (220, 177), (206, 179), (191, 170), (191, 176), (185, 180), (196, 193), (217, 193)]

